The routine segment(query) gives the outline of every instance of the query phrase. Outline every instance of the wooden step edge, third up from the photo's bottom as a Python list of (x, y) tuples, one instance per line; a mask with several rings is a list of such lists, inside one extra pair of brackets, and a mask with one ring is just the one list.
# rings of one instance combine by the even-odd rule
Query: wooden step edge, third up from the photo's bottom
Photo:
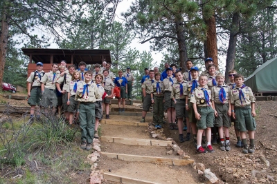
[(160, 141), (153, 139), (132, 139), (124, 137), (112, 137), (112, 136), (101, 136), (101, 141), (109, 143), (120, 143), (123, 145), (156, 145), (156, 146), (167, 146), (172, 144), (172, 141)]

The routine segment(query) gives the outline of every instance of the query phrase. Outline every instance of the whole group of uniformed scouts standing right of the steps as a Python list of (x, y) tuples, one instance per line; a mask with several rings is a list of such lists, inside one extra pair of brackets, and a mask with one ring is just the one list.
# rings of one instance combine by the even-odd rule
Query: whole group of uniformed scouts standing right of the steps
[[(146, 113), (154, 104), (155, 127), (159, 129), (163, 126), (163, 112), (167, 112), (170, 129), (179, 130), (179, 141), (190, 141), (192, 132), (198, 153), (215, 152), (212, 144), (217, 143), (220, 150), (231, 150), (229, 127), (234, 122), (238, 139), (236, 147), (243, 147), (244, 154), (253, 153), (256, 112), (251, 88), (244, 85), (244, 76), (235, 70), (229, 71), (230, 83), (226, 84), (226, 77), (217, 72), (212, 58), (205, 59), (205, 66), (206, 71), (202, 74), (190, 60), (186, 61), (187, 70), (184, 73), (168, 63), (161, 74), (155, 68), (148, 73), (148, 68), (145, 68), (141, 122), (145, 122)], [(183, 135), (184, 119), (186, 139)]]

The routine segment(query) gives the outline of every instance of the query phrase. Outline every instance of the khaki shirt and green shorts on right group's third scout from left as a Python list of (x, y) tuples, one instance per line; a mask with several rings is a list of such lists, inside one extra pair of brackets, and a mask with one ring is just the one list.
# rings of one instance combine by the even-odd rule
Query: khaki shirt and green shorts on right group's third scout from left
[(165, 79), (163, 79), (163, 94), (164, 94), (164, 108), (167, 110), (168, 108), (175, 108), (175, 103), (170, 98), (171, 91), (172, 91), (172, 85), (173, 83), (176, 83), (176, 78), (171, 76), (167, 76)]

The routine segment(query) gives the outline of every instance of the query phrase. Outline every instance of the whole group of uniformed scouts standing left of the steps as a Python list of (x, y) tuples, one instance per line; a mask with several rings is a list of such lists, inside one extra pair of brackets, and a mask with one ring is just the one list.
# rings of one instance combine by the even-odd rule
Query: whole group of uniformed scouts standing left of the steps
[[(74, 115), (80, 120), (82, 130), (81, 148), (91, 150), (93, 138), (98, 139), (98, 125), (105, 108), (106, 119), (109, 119), (110, 99), (114, 97), (114, 73), (109, 69), (111, 63), (94, 65), (94, 71), (87, 70), (84, 61), (66, 68), (66, 61), (60, 65), (53, 63), (50, 72), (43, 71), (43, 63), (38, 62), (37, 70), (30, 73), (28, 82), (28, 104), (30, 118), (40, 119), (40, 113), (46, 114), (51, 110), (62, 107), (69, 125), (73, 125)], [(132, 85), (132, 84), (131, 84)], [(60, 94), (60, 95), (59, 95)], [(105, 107), (104, 107), (105, 106)], [(53, 115), (50, 114), (50, 115)]]

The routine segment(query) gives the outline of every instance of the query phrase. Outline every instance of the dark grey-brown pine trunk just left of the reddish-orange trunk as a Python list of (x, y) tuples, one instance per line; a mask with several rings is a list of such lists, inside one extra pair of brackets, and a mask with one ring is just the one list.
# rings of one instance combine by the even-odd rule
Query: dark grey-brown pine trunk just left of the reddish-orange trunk
[(178, 38), (180, 66), (184, 72), (184, 70), (186, 69), (186, 61), (188, 60), (188, 52), (186, 50), (184, 28), (181, 25), (181, 21), (176, 21), (176, 33)]

